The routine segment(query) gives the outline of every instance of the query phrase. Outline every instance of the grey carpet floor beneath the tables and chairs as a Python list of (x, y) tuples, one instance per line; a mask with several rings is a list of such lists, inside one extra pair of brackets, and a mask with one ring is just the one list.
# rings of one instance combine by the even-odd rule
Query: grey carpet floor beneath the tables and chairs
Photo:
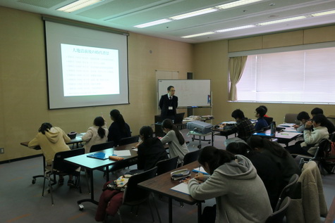
[[(190, 151), (197, 150), (199, 141), (192, 141), (187, 136), (187, 130), (183, 129), (185, 139), (190, 141), (188, 148)], [(209, 136), (207, 136), (209, 139)], [(224, 148), (223, 136), (216, 136), (214, 146)], [(206, 141), (202, 141), (202, 147), (209, 145)], [(130, 167), (135, 169), (135, 166)], [(128, 170), (123, 170), (128, 171)], [(78, 189), (71, 189), (66, 184), (63, 186), (54, 186), (54, 205), (51, 205), (51, 197), (49, 193), (45, 193), (42, 197), (43, 179), (37, 178), (35, 184), (32, 184), (32, 176), (42, 174), (42, 156), (19, 160), (11, 163), (0, 165), (1, 184), (0, 184), (0, 223), (14, 222), (80, 222), (88, 223), (95, 222), (95, 212), (97, 205), (92, 203), (83, 203), (85, 209), (80, 211), (77, 205), (77, 200), (89, 198), (87, 181), (85, 173), (81, 174), (81, 185), (83, 193), (79, 193)], [(122, 174), (118, 172), (117, 174)], [(111, 179), (118, 177), (116, 174), (111, 175)], [(102, 186), (106, 179), (103, 173), (94, 172), (95, 179), (95, 199), (98, 200), (102, 193)], [(67, 177), (66, 177), (67, 181)], [(328, 208), (335, 195), (335, 174), (322, 177), (325, 198)], [(162, 198), (159, 200), (156, 196), (157, 208), (162, 218), (162, 222), (168, 222), (168, 200)], [(202, 208), (206, 205), (214, 205), (214, 199), (206, 200), (202, 204)], [(150, 208), (148, 204), (141, 205), (138, 216), (131, 213), (128, 206), (121, 207), (121, 215), (123, 222), (152, 222)], [(156, 213), (154, 212), (155, 222), (158, 222)], [(119, 222), (118, 215), (110, 217), (109, 222)], [(197, 206), (183, 205), (173, 201), (173, 222), (197, 222)], [(323, 222), (323, 219), (320, 219)]]

